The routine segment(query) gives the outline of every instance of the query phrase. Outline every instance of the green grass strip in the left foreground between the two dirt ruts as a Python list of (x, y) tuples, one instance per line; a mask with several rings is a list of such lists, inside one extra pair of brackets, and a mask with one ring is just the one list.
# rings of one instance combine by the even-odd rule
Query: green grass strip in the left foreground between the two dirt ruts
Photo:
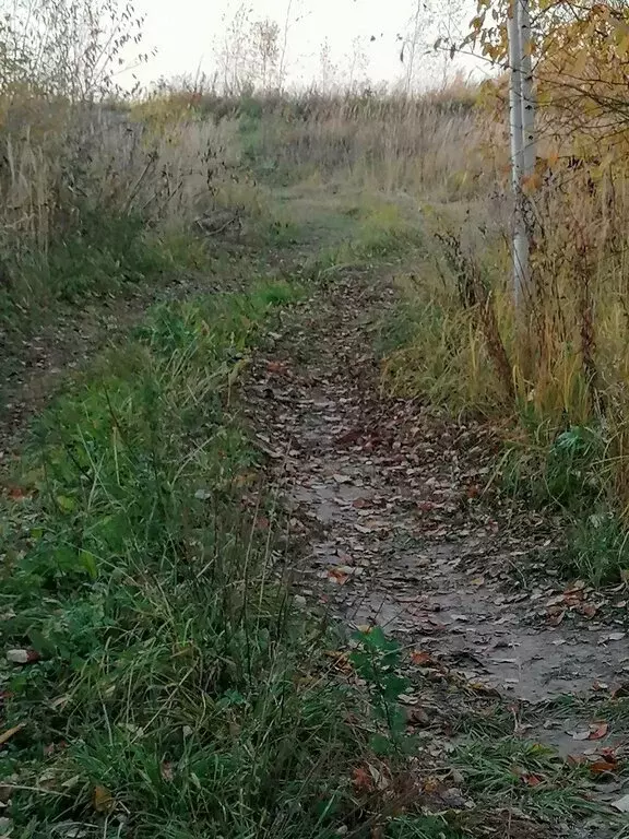
[(161, 307), (37, 423), (2, 529), (4, 647), (39, 657), (1, 669), (16, 835), (333, 835), (360, 736), (228, 402), (292, 296)]

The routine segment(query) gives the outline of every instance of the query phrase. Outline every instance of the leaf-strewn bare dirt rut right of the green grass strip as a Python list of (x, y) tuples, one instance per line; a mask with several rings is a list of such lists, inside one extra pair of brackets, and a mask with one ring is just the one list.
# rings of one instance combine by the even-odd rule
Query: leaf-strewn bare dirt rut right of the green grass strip
[[(256, 363), (252, 422), (307, 534), (298, 588), (508, 697), (627, 681), (622, 633), (591, 616), (596, 593), (578, 588), (565, 598), (577, 608), (558, 612), (553, 578), (535, 587), (522, 572), (543, 568), (553, 522), (483, 492), (491, 433), (381, 393), (373, 331), (393, 295), (383, 280), (346, 276), (289, 316)], [(544, 738), (582, 747), (565, 724)]]

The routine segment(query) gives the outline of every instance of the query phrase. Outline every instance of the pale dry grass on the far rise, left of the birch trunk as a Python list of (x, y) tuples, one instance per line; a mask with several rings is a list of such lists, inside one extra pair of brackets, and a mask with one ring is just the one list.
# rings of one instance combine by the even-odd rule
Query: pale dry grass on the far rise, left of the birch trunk
[[(311, 97), (252, 120), (254, 151), (281, 176), (367, 189), (470, 197), (491, 180), (473, 92), (456, 99)], [(461, 154), (465, 154), (465, 166)]]

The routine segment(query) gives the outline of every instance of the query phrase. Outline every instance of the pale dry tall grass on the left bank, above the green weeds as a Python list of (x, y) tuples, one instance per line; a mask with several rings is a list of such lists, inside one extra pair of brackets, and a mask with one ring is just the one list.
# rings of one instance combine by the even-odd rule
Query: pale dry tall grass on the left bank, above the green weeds
[(233, 122), (179, 120), (154, 131), (124, 113), (59, 115), (48, 130), (2, 132), (0, 225), (47, 250), (82, 202), (185, 225), (212, 206), (238, 163)]

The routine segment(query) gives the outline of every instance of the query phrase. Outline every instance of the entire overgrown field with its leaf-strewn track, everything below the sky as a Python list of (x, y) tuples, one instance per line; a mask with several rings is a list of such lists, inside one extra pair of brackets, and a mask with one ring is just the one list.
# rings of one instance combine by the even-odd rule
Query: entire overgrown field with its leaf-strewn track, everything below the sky
[(522, 322), (498, 94), (7, 102), (0, 836), (629, 835), (625, 174)]

